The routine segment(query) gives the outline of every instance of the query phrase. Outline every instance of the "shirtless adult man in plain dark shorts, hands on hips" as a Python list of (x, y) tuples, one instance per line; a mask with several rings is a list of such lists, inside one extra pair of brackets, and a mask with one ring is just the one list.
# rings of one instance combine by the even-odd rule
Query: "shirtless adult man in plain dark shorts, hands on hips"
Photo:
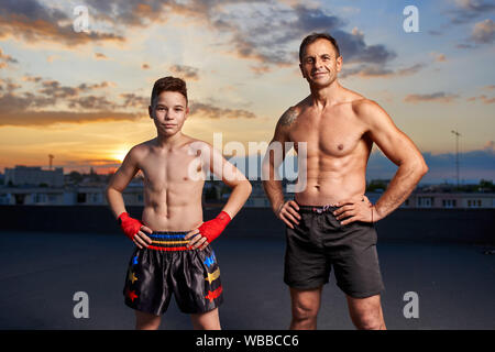
[[(271, 144), (293, 142), (297, 152), (298, 143), (306, 142), (306, 188), (296, 190), (295, 200), (285, 201), (276, 180), (283, 157), (270, 152), (263, 167), (270, 175), (263, 186), (273, 211), (286, 223), (284, 280), (290, 288), (290, 329), (316, 329), (322, 285), (331, 267), (354, 326), (386, 329), (373, 222), (399, 207), (428, 167), (376, 102), (339, 84), (342, 56), (333, 37), (307, 36), (299, 59), (311, 94), (280, 117)], [(373, 143), (398, 166), (375, 205), (364, 196)], [(283, 150), (284, 157), (287, 152)]]

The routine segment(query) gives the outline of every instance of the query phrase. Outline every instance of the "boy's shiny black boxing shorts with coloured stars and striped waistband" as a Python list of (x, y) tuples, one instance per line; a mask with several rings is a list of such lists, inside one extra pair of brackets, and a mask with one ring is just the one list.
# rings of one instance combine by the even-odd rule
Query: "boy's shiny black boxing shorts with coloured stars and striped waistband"
[(180, 311), (200, 314), (223, 301), (220, 267), (213, 250), (188, 250), (187, 232), (153, 232), (147, 249), (134, 250), (123, 288), (125, 305), (163, 315), (174, 294)]

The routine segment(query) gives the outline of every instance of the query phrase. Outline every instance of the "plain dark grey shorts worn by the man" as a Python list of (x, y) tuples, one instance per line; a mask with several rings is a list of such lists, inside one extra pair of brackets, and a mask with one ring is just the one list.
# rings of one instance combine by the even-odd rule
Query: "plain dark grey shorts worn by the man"
[(365, 298), (385, 289), (376, 253), (373, 223), (341, 226), (336, 207), (299, 206), (301, 220), (286, 228), (284, 282), (296, 289), (312, 289), (329, 282), (333, 266), (337, 285), (346, 295)]

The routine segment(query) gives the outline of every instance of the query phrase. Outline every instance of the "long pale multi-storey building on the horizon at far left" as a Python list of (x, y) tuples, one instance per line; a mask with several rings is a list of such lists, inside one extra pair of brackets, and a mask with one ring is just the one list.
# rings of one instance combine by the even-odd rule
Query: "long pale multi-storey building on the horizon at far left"
[(42, 169), (40, 166), (20, 166), (6, 168), (4, 184), (12, 186), (40, 186), (63, 187), (64, 169), (57, 167), (54, 170)]

